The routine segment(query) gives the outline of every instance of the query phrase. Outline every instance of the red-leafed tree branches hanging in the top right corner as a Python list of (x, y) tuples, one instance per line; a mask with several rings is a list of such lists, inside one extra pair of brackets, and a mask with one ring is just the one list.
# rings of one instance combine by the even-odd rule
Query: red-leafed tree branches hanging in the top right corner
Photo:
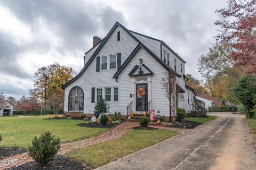
[(245, 73), (256, 73), (256, 1), (228, 0), (228, 7), (216, 11), (220, 19), (220, 43), (229, 43), (233, 51), (229, 57)]

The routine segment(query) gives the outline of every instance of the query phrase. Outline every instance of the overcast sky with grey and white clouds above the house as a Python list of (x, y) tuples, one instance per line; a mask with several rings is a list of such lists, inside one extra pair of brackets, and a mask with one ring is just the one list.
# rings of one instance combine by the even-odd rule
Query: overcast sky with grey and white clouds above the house
[(186, 73), (202, 79), (197, 58), (218, 34), (215, 9), (226, 5), (225, 0), (0, 0), (0, 91), (28, 95), (35, 71), (54, 62), (78, 73), (92, 37), (105, 37), (116, 21), (164, 40), (187, 62)]

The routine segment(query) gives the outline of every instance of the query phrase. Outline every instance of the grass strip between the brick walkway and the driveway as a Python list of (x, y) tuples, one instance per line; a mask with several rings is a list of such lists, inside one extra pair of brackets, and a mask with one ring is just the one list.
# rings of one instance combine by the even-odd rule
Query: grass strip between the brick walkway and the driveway
[(170, 130), (131, 130), (120, 139), (76, 149), (66, 155), (96, 168), (154, 145), (175, 134), (178, 134), (178, 132)]

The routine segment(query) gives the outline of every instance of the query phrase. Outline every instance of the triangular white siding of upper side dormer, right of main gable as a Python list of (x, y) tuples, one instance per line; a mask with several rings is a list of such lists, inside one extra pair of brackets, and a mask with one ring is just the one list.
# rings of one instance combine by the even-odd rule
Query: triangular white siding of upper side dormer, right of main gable
[(161, 55), (161, 48), (160, 45), (161, 43), (157, 40), (145, 37), (145, 36), (141, 36), (138, 35), (137, 33), (133, 33), (131, 32), (133, 36), (135, 36), (136, 38), (138, 38), (138, 40), (141, 41), (141, 43), (143, 43), (146, 47), (148, 47), (151, 52), (153, 52), (155, 55), (157, 55), (160, 58)]

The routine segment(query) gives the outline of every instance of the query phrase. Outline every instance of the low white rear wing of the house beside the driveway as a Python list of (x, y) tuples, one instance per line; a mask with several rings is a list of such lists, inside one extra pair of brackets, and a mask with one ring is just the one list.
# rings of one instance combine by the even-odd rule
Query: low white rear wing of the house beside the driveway
[(178, 107), (185, 109), (186, 112), (195, 111), (195, 89), (186, 85), (186, 92), (180, 93)]

